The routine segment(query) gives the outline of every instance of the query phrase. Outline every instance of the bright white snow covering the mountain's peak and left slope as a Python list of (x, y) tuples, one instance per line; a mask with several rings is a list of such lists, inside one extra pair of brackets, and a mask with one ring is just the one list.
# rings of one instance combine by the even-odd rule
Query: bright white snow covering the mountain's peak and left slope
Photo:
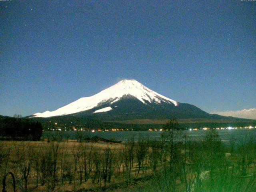
[[(160, 104), (161, 102), (166, 102), (169, 104), (174, 104), (178, 106), (178, 102), (162, 96), (146, 86), (142, 85), (136, 80), (122, 80), (117, 84), (99, 92), (90, 97), (80, 98), (64, 107), (61, 107), (55, 111), (46, 111), (43, 113), (36, 113), (33, 117), (51, 117), (51, 116), (61, 116), (67, 114), (78, 113), (86, 110), (90, 110), (96, 106), (100, 106), (103, 103), (110, 102), (110, 104), (117, 102), (123, 96), (133, 96), (140, 100), (142, 103), (146, 104), (145, 101), (155, 102)], [(96, 110), (95, 112), (104, 112), (105, 110), (112, 110), (112, 108), (103, 108)]]

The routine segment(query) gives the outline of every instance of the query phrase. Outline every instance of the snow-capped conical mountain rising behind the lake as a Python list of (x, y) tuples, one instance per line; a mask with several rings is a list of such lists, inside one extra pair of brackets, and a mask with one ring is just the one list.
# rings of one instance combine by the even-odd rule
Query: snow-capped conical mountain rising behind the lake
[(134, 120), (166, 118), (220, 118), (194, 105), (167, 98), (136, 80), (121, 80), (90, 97), (80, 98), (54, 111), (30, 117), (89, 116), (100, 120)]

